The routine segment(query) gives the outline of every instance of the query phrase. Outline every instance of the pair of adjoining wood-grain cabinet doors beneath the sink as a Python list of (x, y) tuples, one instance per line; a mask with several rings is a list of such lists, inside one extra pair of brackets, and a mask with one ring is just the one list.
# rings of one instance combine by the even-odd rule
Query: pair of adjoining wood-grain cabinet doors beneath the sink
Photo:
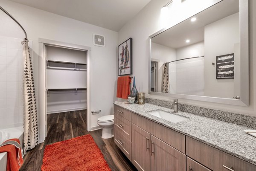
[(132, 124), (132, 163), (139, 171), (185, 171), (186, 155)]

